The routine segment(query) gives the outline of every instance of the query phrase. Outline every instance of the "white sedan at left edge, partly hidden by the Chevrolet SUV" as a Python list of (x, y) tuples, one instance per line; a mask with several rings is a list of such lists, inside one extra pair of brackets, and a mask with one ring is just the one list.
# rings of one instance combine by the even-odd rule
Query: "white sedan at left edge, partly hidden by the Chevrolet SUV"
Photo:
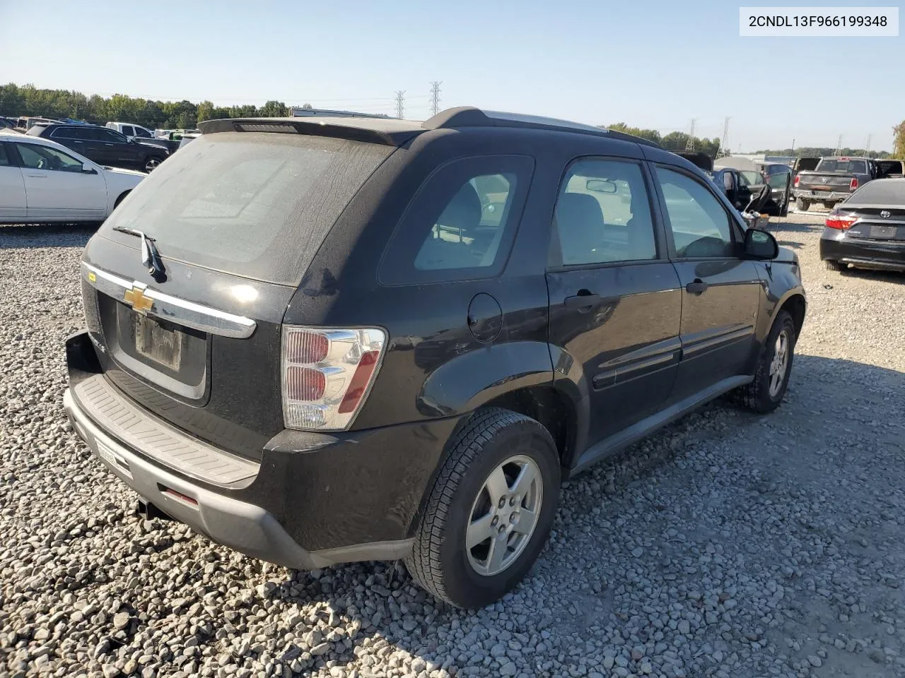
[(0, 223), (103, 221), (146, 176), (102, 167), (50, 139), (0, 131)]

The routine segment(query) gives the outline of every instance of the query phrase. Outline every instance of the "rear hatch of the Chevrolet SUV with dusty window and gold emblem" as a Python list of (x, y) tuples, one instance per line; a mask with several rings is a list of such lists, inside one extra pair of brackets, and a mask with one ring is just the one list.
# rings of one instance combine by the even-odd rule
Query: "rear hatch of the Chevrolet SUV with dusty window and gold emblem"
[[(82, 260), (108, 381), (177, 428), (260, 457), (283, 428), (282, 317), (339, 213), (392, 150), (218, 132), (148, 175)], [(142, 262), (139, 233), (162, 274)]]

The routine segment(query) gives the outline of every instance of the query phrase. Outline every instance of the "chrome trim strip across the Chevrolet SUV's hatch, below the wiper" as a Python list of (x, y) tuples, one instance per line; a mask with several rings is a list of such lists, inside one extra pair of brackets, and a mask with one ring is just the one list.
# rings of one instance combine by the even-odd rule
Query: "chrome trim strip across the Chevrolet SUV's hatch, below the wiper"
[(90, 285), (118, 301), (123, 300), (127, 290), (133, 287), (141, 289), (145, 297), (153, 302), (153, 306), (148, 310), (148, 315), (172, 320), (179, 325), (186, 325), (186, 327), (192, 327), (201, 332), (228, 336), (233, 339), (247, 339), (254, 334), (254, 330), (258, 326), (251, 318), (243, 315), (233, 315), (210, 306), (195, 304), (194, 301), (173, 297), (151, 289), (138, 280), (129, 282), (125, 278), (119, 278), (119, 276), (102, 268), (91, 266), (84, 261), (81, 262), (81, 265), (86, 271), (95, 275), (95, 279), (91, 280), (86, 274), (85, 278), (88, 278)]

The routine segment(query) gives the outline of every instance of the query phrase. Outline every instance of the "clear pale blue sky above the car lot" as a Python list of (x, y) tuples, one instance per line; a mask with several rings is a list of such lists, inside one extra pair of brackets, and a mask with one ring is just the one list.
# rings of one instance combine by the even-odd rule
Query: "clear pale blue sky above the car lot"
[(0, 0), (0, 80), (387, 114), (405, 89), (415, 119), (442, 80), (442, 108), (663, 132), (698, 118), (706, 137), (729, 116), (733, 150), (835, 146), (840, 134), (891, 150), (905, 38), (741, 38), (739, 4), (780, 3)]

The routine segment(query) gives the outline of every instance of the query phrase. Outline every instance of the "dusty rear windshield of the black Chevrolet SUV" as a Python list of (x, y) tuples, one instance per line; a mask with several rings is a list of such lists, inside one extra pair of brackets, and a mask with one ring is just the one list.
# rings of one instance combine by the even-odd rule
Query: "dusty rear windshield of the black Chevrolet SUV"
[(298, 285), (339, 213), (391, 146), (222, 132), (198, 137), (148, 175), (100, 232), (145, 231), (164, 259)]

